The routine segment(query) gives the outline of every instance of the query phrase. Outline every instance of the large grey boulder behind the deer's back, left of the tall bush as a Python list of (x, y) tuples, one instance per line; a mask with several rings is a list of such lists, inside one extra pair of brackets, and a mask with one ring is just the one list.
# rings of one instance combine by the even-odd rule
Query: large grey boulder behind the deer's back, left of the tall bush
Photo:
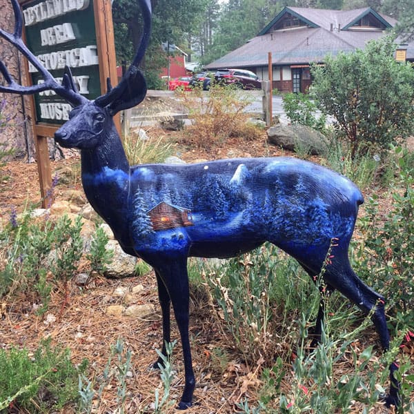
[(328, 150), (326, 137), (304, 125), (276, 125), (267, 131), (268, 141), (285, 150), (306, 152), (311, 155), (324, 155)]

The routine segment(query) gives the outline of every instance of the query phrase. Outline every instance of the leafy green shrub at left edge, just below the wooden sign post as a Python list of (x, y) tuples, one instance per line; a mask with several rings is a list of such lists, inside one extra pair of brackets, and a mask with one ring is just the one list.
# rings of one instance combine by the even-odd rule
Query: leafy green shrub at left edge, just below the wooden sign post
[(9, 224), (0, 231), (0, 295), (30, 293), (41, 304), (38, 313), (44, 313), (52, 291), (48, 271), (53, 280), (66, 284), (77, 270), (83, 252), (81, 226), (81, 217), (73, 224), (67, 216), (56, 223), (33, 221), (30, 212), (18, 219), (12, 210)]

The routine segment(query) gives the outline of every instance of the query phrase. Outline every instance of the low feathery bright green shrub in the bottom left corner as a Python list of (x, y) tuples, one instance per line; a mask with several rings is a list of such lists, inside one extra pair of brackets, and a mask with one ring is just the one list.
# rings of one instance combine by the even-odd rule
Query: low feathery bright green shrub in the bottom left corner
[(50, 413), (77, 401), (78, 375), (87, 361), (77, 368), (70, 362), (70, 351), (51, 339), (41, 342), (34, 355), (26, 348), (0, 349), (0, 411), (9, 407), (29, 413)]

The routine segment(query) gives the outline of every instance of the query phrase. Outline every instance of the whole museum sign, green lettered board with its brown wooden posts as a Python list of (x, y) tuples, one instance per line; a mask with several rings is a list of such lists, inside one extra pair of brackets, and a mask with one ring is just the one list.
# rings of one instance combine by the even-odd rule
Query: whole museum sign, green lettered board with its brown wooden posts
[[(30, 0), (21, 1), (26, 44), (59, 80), (69, 66), (79, 92), (95, 99), (106, 92), (106, 79), (117, 84), (115, 41), (110, 0)], [(91, 24), (95, 21), (95, 25)], [(30, 84), (43, 79), (26, 61)], [(32, 97), (34, 144), (37, 152), (43, 208), (52, 204), (52, 174), (48, 140), (69, 119), (69, 103), (55, 92)], [(119, 117), (115, 124), (120, 130)]]

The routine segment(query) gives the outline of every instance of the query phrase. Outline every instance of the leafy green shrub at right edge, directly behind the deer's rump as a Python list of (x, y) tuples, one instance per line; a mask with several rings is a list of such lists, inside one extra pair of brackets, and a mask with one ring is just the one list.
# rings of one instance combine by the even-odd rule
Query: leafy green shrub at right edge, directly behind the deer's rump
[(403, 326), (414, 326), (414, 169), (401, 157), (395, 170), (397, 180), (391, 194), (392, 207), (380, 215), (380, 199), (366, 201), (360, 221), (364, 244), (357, 250), (359, 272), (375, 290), (388, 298), (389, 307)]

